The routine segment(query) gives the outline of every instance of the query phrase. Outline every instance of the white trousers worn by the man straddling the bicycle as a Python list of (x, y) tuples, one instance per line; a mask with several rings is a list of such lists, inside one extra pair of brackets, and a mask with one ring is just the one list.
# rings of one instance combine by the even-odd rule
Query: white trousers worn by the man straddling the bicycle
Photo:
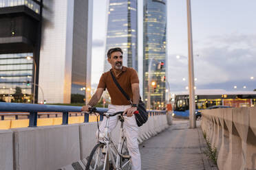
[[(109, 113), (114, 112), (122, 112), (127, 108), (131, 108), (130, 105), (111, 105), (109, 104), (108, 111)], [(104, 133), (104, 128), (106, 125), (106, 118), (103, 118), (102, 123), (100, 124), (100, 133)], [(118, 123), (118, 116), (109, 117), (109, 130), (110, 132), (114, 130)], [(129, 151), (129, 155), (131, 156), (131, 169), (132, 170), (140, 170), (141, 169), (141, 160), (140, 160), (140, 151), (138, 148), (138, 125), (136, 123), (135, 116), (125, 117), (124, 122), (124, 131), (125, 136), (127, 138), (127, 148)]]

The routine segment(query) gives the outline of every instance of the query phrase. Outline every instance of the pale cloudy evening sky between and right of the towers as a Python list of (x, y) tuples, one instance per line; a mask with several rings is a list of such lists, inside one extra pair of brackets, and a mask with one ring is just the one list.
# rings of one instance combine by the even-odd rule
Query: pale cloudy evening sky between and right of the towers
[[(138, 0), (138, 58), (142, 65), (142, 0)], [(256, 1), (191, 1), (197, 89), (256, 88)], [(103, 73), (107, 0), (94, 0), (92, 85)], [(171, 92), (188, 86), (186, 0), (167, 0), (167, 81)], [(180, 56), (180, 58), (177, 58)], [(141, 79), (142, 68), (138, 69)], [(253, 80), (250, 77), (254, 77)], [(237, 86), (237, 88), (234, 88)], [(244, 88), (246, 86), (246, 88)]]

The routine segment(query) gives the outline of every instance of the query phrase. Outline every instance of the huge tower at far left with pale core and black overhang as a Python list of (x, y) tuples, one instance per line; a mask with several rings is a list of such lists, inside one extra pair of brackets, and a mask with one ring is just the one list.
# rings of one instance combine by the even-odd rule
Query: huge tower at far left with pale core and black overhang
[(85, 94), (83, 87), (90, 87), (87, 32), (92, 25), (91, 3), (0, 0), (1, 100), (14, 100), (17, 86), (25, 102), (32, 100), (34, 65), (36, 84), (43, 89), (41, 93), (36, 85), (35, 101), (70, 103), (72, 93)]

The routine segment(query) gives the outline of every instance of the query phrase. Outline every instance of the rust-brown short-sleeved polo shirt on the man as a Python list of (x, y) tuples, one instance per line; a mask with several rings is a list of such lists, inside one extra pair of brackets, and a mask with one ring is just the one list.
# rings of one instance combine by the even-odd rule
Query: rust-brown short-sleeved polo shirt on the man
[[(112, 69), (111, 69), (112, 71)], [(112, 71), (113, 75), (114, 72)], [(122, 73), (116, 77), (116, 80), (120, 84), (125, 93), (133, 99), (131, 84), (139, 83), (137, 72), (129, 67), (122, 66)], [(116, 86), (113, 78), (111, 77), (110, 71), (103, 73), (100, 77), (100, 82), (98, 83), (98, 88), (107, 88), (109, 95), (111, 97), (111, 104), (114, 105), (129, 105), (129, 101), (120, 92), (119, 88)]]

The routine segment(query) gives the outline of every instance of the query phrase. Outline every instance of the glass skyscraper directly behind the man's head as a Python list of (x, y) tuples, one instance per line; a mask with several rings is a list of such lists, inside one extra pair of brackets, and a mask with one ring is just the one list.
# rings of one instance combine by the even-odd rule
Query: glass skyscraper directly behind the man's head
[(124, 66), (138, 71), (137, 19), (137, 0), (109, 0), (104, 71), (111, 69), (107, 50), (113, 47), (122, 49)]

